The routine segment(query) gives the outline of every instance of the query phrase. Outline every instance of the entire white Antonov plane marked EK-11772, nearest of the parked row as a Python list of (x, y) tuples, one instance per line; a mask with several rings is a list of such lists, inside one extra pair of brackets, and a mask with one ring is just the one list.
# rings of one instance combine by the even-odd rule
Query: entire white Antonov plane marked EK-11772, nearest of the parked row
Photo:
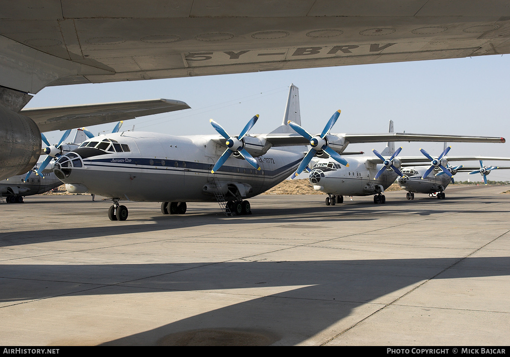
[(227, 134), (214, 120), (211, 124), (219, 136), (144, 132), (101, 135), (60, 157), (53, 168), (69, 192), (111, 198), (111, 220), (127, 218), (128, 210), (120, 200), (163, 202), (164, 214), (186, 212), (186, 202), (217, 200), (220, 205), (226, 202), (227, 213), (248, 214), (251, 209), (246, 199), (287, 179), (301, 167), (303, 159), (332, 156), (348, 165), (339, 153), (348, 154), (344, 150), (349, 143), (504, 142), (500, 137), (329, 134), (339, 115), (340, 111), (335, 112), (320, 135), (303, 138), (293, 130), (301, 118), (298, 88), (291, 85), (283, 123), (269, 134), (248, 134), (258, 120), (256, 115), (238, 136)]

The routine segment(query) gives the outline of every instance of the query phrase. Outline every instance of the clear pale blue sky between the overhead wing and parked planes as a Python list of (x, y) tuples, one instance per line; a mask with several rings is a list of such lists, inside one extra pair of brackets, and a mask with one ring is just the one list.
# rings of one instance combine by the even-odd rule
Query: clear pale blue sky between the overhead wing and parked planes
[[(510, 157), (510, 55), (47, 87), (27, 108), (177, 99), (192, 109), (127, 120), (122, 129), (135, 125), (135, 131), (216, 134), (209, 123), (213, 118), (236, 135), (259, 114), (250, 133), (268, 133), (282, 122), (291, 83), (299, 88), (302, 126), (311, 133), (321, 132), (340, 109), (332, 133), (385, 133), (391, 119), (396, 132), (504, 137), (505, 144), (450, 143), (449, 155)], [(87, 129), (97, 134), (114, 125)], [(55, 143), (62, 136), (46, 134)], [(443, 150), (443, 143), (396, 145), (403, 146), (401, 156), (421, 155), (419, 148), (432, 156)], [(384, 146), (369, 143), (348, 149), (370, 152)], [(510, 161), (487, 164), (510, 166)], [(510, 180), (510, 170), (495, 170), (488, 177)], [(455, 176), (458, 181), (468, 178), (482, 180), (480, 175)]]

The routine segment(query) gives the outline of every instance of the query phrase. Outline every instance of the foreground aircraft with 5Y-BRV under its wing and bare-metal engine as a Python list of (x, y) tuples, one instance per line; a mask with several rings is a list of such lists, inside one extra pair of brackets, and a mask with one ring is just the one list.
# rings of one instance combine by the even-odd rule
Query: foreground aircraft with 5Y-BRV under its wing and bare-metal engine
[(510, 53), (506, 0), (210, 3), (2, 2), (0, 180), (34, 167), (41, 132), (122, 120), (23, 109), (46, 86)]

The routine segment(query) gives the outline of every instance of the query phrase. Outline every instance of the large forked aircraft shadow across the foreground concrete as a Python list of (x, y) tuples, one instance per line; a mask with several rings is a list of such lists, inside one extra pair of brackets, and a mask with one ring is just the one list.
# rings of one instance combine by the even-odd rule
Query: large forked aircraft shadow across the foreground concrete
[[(266, 340), (260, 339), (260, 344), (278, 340), (282, 344), (297, 344), (348, 317), (353, 309), (370, 304), (366, 311), (368, 316), (429, 279), (510, 275), (510, 257), (139, 265), (13, 264), (3, 265), (2, 272), (4, 288), (0, 290), (0, 300), (3, 305), (62, 295), (125, 296), (167, 292), (170, 295), (162, 298), (160, 306), (154, 307), (154, 314), (160, 314), (159, 309), (181, 308), (171, 305), (172, 293), (199, 291), (205, 299), (208, 292), (228, 294), (230, 289), (237, 289), (232, 292), (234, 295), (245, 294), (243, 302), (105, 345), (189, 344), (182, 340), (182, 335), (174, 334), (200, 329), (243, 331), (252, 333), (255, 340), (264, 335)], [(65, 293), (63, 287), (67, 289)], [(260, 288), (260, 295), (257, 290), (240, 292), (243, 288)], [(279, 292), (264, 294), (264, 289)], [(233, 300), (239, 301), (239, 298)], [(285, 332), (285, 326), (292, 326), (292, 333)], [(227, 343), (221, 339), (217, 342)], [(251, 340), (249, 344), (256, 342)], [(238, 339), (237, 343), (242, 342)]]

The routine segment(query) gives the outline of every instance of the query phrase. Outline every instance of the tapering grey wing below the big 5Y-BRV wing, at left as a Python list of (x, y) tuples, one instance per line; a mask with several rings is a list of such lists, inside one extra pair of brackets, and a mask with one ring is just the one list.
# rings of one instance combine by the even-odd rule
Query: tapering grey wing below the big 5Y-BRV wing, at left
[(22, 109), (41, 132), (74, 129), (190, 108), (184, 101), (149, 99), (79, 106)]

